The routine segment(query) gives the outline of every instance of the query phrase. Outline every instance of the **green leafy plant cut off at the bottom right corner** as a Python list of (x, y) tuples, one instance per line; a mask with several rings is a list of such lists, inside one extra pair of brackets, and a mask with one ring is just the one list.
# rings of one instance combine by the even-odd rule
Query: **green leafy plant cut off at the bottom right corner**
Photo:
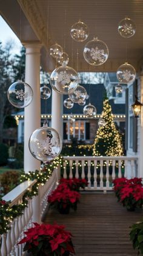
[(133, 243), (133, 249), (138, 249), (138, 254), (143, 254), (143, 221), (131, 226), (130, 240)]

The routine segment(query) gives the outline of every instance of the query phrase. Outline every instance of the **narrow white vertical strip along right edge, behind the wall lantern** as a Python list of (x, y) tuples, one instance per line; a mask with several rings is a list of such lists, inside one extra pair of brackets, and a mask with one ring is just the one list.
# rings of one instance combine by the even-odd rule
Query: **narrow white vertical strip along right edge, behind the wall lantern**
[[(139, 101), (142, 103), (143, 102), (143, 76), (140, 76), (140, 89), (141, 89), (141, 99), (139, 99)], [(139, 160), (138, 160), (138, 177), (143, 178), (143, 107), (141, 108), (141, 116), (140, 116), (140, 120), (138, 120), (138, 122), (140, 122), (140, 131), (138, 133), (139, 136), (139, 149), (138, 149), (138, 156), (139, 156)]]

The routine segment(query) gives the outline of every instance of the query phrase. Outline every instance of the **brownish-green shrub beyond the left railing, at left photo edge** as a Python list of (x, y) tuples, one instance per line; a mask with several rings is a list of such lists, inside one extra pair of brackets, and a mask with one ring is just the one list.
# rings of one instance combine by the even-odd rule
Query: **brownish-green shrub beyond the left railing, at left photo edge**
[(20, 173), (18, 171), (6, 171), (0, 176), (1, 187), (4, 194), (13, 190), (18, 184)]

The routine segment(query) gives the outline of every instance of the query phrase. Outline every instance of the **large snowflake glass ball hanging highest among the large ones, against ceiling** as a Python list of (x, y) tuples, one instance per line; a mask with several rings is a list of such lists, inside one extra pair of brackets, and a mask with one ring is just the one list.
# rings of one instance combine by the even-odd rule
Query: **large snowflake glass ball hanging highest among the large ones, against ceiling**
[(108, 47), (104, 41), (93, 38), (88, 41), (84, 47), (84, 59), (86, 62), (93, 66), (99, 66), (106, 62), (108, 59)]

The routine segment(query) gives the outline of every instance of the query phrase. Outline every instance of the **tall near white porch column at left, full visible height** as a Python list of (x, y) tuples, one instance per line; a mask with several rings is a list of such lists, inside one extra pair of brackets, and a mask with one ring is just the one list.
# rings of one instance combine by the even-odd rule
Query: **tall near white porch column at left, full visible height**
[(24, 111), (24, 171), (40, 169), (40, 161), (36, 160), (28, 149), (28, 140), (32, 132), (41, 127), (40, 99), (40, 49), (39, 43), (27, 43), (25, 59), (25, 82), (32, 87), (33, 100)]

